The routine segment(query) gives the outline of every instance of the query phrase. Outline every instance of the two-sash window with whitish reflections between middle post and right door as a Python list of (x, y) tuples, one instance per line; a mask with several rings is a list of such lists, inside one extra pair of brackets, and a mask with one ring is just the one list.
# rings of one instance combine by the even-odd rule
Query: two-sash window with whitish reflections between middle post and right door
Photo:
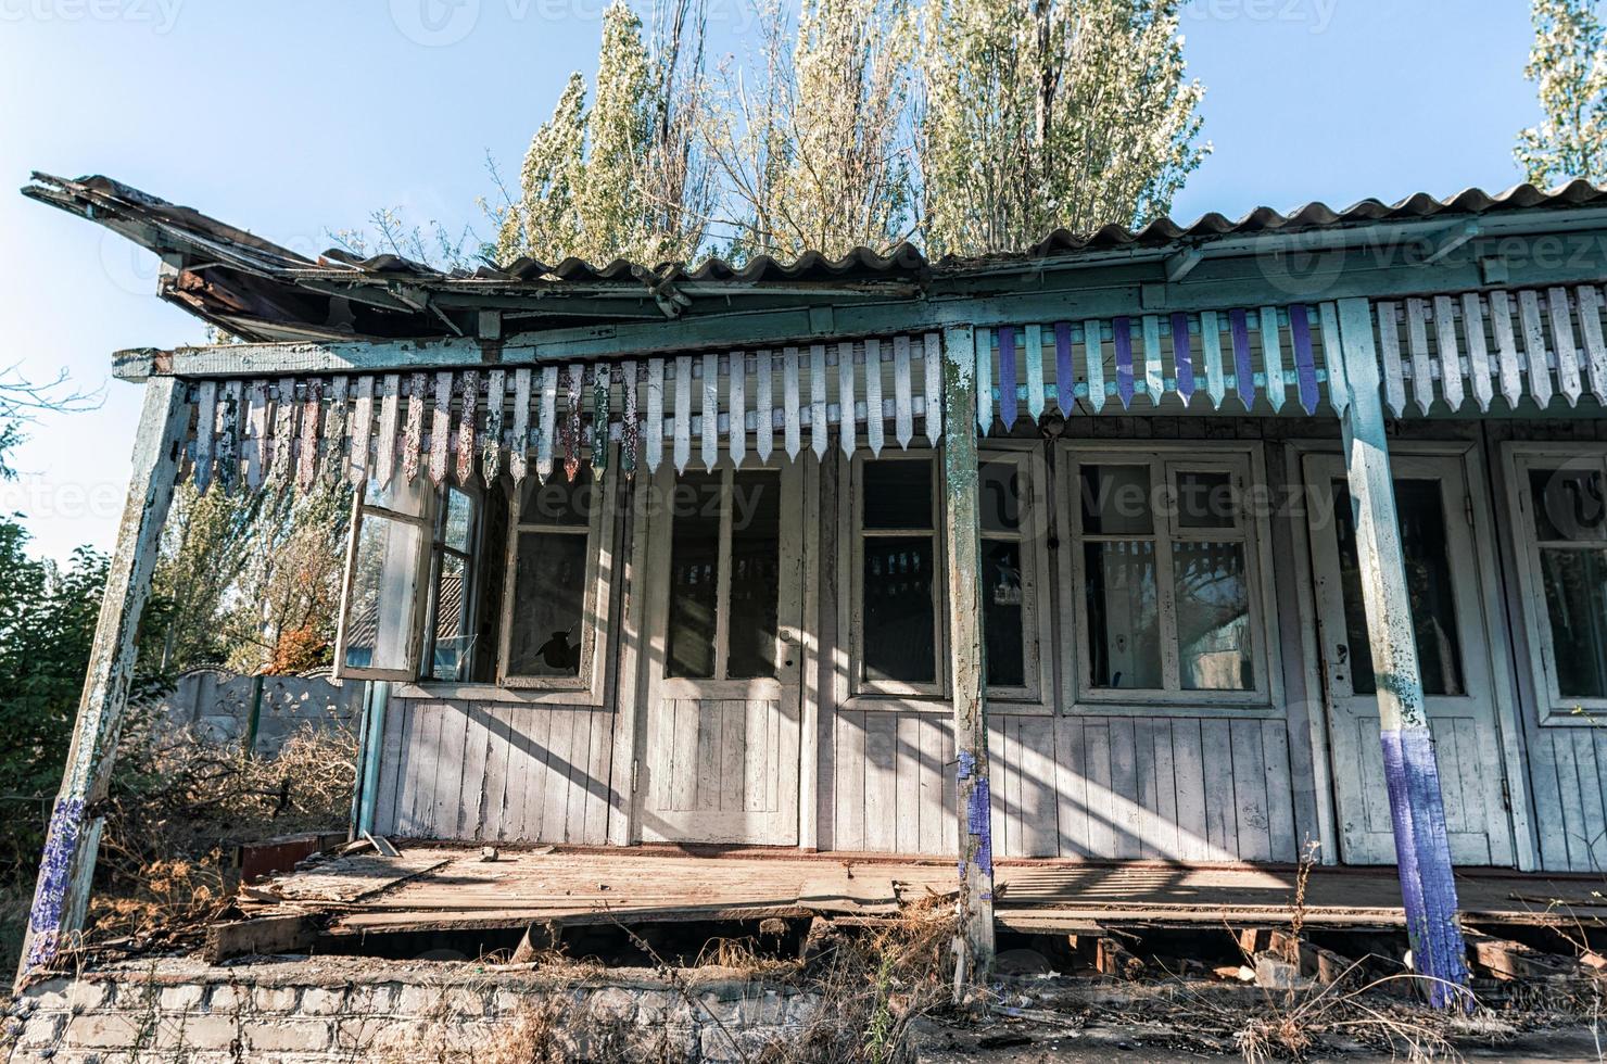
[(1082, 698), (1268, 701), (1249, 482), (1244, 453), (1072, 463)]

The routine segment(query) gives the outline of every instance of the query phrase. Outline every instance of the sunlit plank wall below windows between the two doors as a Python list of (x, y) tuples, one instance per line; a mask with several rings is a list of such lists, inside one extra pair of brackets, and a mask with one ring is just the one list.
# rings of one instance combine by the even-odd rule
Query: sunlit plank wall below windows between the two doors
[[(836, 718), (837, 802), (823, 849), (955, 852), (953, 723)], [(1286, 722), (1003, 715), (988, 722), (1000, 857), (1292, 861)]]

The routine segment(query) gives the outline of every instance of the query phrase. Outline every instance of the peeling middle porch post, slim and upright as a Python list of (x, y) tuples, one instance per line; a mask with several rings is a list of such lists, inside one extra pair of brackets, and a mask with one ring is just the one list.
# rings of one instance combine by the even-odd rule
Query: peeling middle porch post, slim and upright
[(955, 995), (993, 971), (993, 802), (982, 678), (982, 538), (977, 514), (975, 342), (943, 333), (943, 535), (948, 553), (950, 685), (959, 783), (959, 932)]

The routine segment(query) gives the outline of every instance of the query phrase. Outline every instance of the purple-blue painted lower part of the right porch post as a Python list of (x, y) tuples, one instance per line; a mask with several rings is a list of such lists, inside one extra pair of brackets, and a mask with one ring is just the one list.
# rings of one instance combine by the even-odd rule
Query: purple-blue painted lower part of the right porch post
[(1430, 1005), (1472, 1008), (1433, 738), (1427, 726), (1385, 728), (1380, 738), (1413, 968), (1432, 980)]

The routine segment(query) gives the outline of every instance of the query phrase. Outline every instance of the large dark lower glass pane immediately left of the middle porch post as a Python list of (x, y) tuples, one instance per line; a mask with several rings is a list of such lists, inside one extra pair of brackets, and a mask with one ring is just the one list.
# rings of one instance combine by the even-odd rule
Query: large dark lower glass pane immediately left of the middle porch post
[(932, 561), (930, 535), (865, 537), (866, 680), (937, 680)]

